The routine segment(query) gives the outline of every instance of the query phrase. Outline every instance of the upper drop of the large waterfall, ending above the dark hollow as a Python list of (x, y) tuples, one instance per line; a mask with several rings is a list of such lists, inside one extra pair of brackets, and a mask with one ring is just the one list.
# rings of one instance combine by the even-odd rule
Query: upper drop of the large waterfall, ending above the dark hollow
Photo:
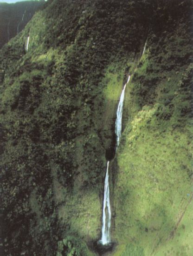
[(118, 104), (118, 108), (116, 111), (116, 122), (115, 122), (116, 149), (119, 146), (120, 138), (121, 138), (123, 101), (124, 101), (124, 96), (125, 96), (125, 88), (126, 88), (126, 85), (129, 83), (130, 77), (131, 76), (129, 75), (128, 80), (127, 80), (126, 84), (124, 85), (124, 88), (121, 93), (120, 101)]

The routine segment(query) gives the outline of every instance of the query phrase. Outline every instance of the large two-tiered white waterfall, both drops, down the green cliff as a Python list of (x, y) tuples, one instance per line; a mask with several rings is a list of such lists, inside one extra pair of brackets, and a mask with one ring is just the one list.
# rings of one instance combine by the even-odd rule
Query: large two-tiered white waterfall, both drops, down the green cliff
[[(119, 146), (121, 131), (122, 131), (122, 110), (123, 110), (123, 101), (125, 95), (126, 85), (129, 83), (130, 75), (119, 100), (118, 108), (116, 111), (116, 148)], [(109, 194), (109, 161), (107, 162), (107, 170), (104, 180), (104, 199), (103, 199), (103, 226), (102, 226), (102, 237), (100, 243), (103, 245), (111, 242), (110, 240), (110, 226), (111, 226), (111, 210), (110, 210), (110, 194)]]

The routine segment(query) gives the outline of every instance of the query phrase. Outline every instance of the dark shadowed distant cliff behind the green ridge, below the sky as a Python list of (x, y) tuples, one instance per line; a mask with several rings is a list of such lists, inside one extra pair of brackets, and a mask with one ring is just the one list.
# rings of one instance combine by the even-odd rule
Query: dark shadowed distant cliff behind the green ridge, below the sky
[(0, 3), (0, 48), (17, 35), (43, 5), (44, 1)]

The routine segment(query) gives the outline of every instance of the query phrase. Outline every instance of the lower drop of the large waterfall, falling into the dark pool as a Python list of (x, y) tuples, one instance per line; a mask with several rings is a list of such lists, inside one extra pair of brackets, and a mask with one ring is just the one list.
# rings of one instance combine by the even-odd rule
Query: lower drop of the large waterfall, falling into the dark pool
[(110, 196), (109, 196), (109, 161), (107, 162), (107, 171), (104, 181), (104, 200), (103, 200), (103, 227), (101, 243), (110, 243), (110, 225), (111, 225), (111, 211), (110, 211)]

